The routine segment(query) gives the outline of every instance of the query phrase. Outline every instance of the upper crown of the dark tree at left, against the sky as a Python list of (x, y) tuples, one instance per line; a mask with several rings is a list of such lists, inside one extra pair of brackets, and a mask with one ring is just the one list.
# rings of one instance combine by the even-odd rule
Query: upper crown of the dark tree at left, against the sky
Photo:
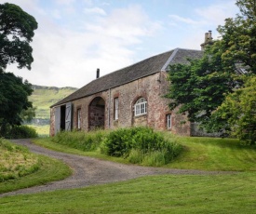
[[(0, 69), (17, 62), (18, 68), (31, 69), (33, 48), (30, 46), (37, 29), (34, 17), (20, 7), (0, 4)], [(3, 71), (2, 71), (3, 72)]]

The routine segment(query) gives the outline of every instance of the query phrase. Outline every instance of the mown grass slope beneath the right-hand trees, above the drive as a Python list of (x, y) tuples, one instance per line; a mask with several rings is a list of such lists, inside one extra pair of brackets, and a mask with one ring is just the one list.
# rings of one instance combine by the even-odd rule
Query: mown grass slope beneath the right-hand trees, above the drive
[(235, 139), (177, 138), (183, 153), (168, 167), (202, 170), (255, 171), (256, 147), (241, 145)]

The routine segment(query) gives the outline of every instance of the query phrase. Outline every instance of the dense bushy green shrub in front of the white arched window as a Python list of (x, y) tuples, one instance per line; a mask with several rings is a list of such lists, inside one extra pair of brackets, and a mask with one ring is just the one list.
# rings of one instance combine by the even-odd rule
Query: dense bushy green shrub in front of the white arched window
[(120, 128), (112, 131), (101, 144), (101, 153), (128, 158), (133, 164), (163, 166), (182, 152), (182, 145), (165, 140), (149, 127)]

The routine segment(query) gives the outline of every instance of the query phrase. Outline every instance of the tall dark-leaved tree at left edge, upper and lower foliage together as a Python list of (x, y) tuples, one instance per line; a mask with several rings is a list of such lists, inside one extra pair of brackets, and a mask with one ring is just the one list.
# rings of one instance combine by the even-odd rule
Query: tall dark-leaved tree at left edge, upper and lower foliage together
[(34, 17), (13, 4), (0, 4), (0, 135), (7, 127), (20, 125), (21, 112), (32, 108), (28, 100), (33, 92), (31, 85), (5, 69), (10, 63), (18, 68), (31, 69), (33, 48), (30, 46), (37, 29)]

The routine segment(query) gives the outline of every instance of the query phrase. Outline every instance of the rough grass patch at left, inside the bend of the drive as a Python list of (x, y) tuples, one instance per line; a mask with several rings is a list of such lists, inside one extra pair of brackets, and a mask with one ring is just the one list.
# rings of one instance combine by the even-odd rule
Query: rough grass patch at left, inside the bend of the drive
[(31, 154), (25, 147), (0, 140), (0, 194), (59, 181), (71, 173), (59, 160)]

